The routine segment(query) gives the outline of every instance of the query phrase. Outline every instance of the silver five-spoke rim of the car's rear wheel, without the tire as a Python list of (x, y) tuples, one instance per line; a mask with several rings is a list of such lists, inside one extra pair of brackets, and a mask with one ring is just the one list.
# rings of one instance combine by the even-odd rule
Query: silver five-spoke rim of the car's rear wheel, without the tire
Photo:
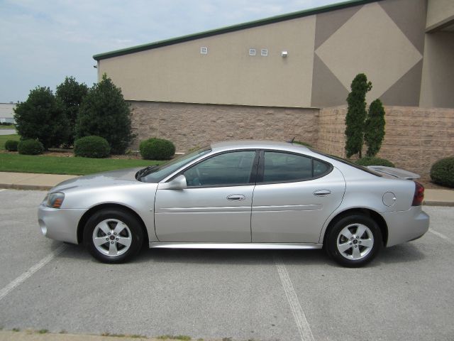
[(338, 234), (339, 253), (350, 260), (363, 259), (374, 246), (374, 236), (369, 227), (363, 224), (350, 224)]

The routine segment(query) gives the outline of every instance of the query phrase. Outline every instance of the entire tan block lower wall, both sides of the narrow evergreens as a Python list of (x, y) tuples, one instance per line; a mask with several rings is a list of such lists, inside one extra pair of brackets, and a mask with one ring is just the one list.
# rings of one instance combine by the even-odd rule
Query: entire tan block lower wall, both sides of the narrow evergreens
[[(217, 104), (131, 102), (131, 148), (150, 137), (169, 139), (177, 151), (232, 139), (286, 141), (295, 136), (321, 151), (345, 156), (346, 106), (323, 109)], [(454, 155), (454, 109), (385, 107), (386, 135), (378, 156), (428, 175), (440, 158)]]

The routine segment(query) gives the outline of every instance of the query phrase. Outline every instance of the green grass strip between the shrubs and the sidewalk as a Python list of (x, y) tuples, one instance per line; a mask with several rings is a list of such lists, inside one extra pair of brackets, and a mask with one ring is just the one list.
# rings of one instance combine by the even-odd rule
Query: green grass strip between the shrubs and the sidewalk
[(121, 168), (145, 167), (164, 161), (114, 158), (65, 158), (0, 153), (0, 172), (86, 175)]

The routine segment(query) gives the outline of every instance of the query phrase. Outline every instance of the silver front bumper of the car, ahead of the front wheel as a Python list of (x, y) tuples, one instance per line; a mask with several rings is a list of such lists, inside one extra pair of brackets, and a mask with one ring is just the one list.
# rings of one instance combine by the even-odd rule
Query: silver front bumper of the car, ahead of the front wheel
[(77, 225), (85, 212), (87, 212), (86, 209), (69, 210), (40, 205), (38, 207), (38, 224), (45, 237), (79, 244), (77, 242)]

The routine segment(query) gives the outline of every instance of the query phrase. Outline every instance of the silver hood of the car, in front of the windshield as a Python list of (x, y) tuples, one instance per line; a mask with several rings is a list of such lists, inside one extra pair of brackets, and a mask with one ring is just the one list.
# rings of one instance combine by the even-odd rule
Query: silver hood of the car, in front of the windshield
[(135, 179), (135, 173), (137, 173), (141, 168), (143, 167), (127, 168), (120, 169), (118, 171), (79, 176), (78, 178), (72, 178), (59, 183), (52, 188), (50, 192), (62, 192), (81, 187), (99, 188), (113, 185), (131, 185), (134, 183), (140, 184), (140, 181)]

